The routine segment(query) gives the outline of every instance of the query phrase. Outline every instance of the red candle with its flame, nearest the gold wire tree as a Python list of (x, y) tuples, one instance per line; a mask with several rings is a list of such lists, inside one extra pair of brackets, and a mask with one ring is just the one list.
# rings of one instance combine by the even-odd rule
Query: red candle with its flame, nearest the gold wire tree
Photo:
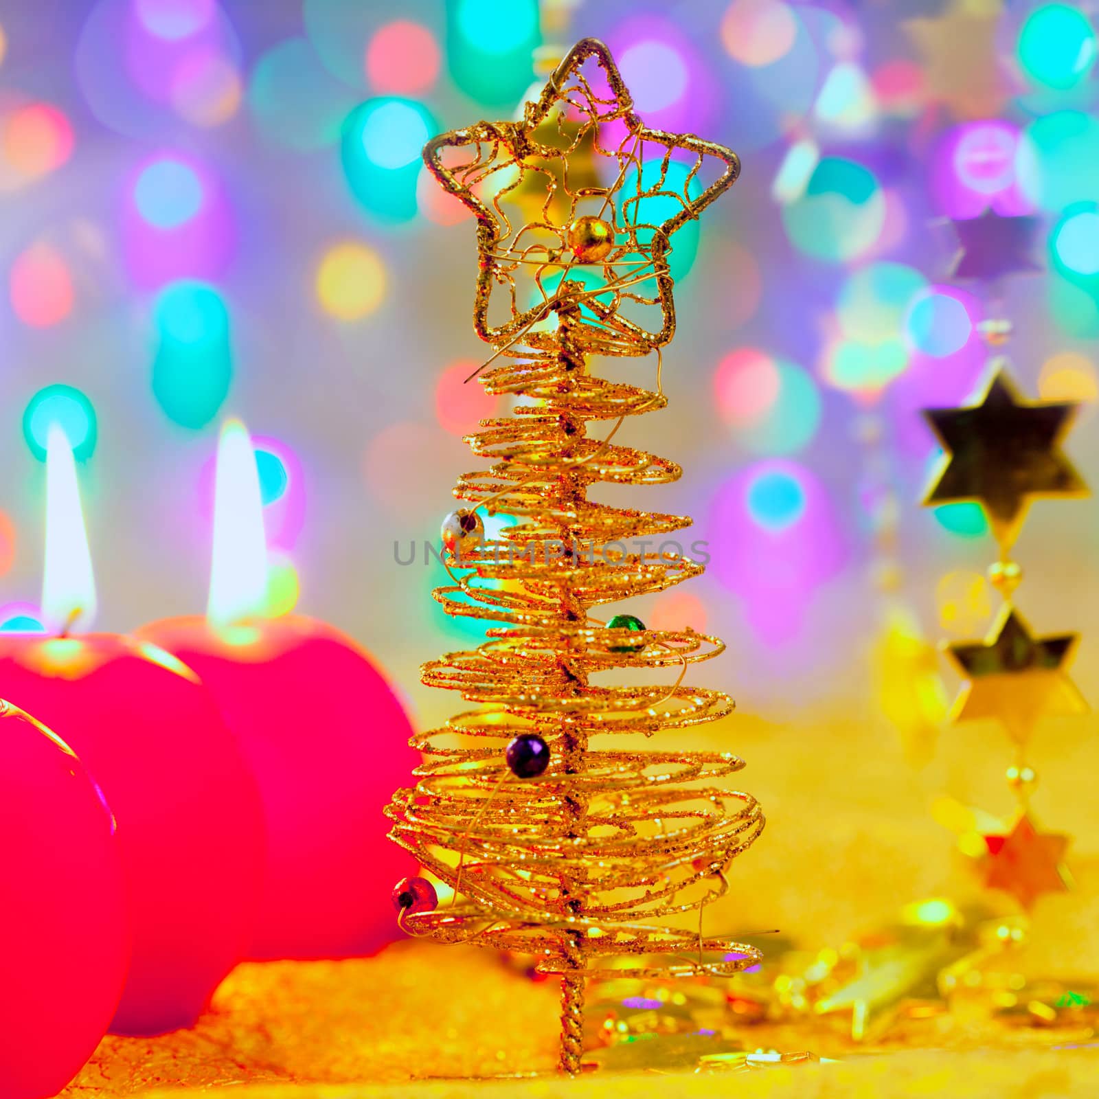
[(370, 657), (302, 617), (264, 619), (266, 544), (252, 442), (222, 432), (207, 618), (141, 635), (192, 667), (221, 707), (264, 803), (267, 864), (256, 958), (347, 957), (396, 937), (395, 880), (414, 864), (382, 808), (419, 755), (408, 718)]

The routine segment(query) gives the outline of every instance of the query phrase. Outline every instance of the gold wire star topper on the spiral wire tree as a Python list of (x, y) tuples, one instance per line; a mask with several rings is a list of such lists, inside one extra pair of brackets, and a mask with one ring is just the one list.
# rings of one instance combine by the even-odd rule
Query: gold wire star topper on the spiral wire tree
[(671, 338), (673, 236), (740, 173), (722, 145), (645, 126), (596, 38), (569, 51), (522, 121), (441, 134), (424, 163), (477, 217), (477, 334), (499, 351), (548, 347), (553, 314), (571, 304), (585, 349), (611, 355)]

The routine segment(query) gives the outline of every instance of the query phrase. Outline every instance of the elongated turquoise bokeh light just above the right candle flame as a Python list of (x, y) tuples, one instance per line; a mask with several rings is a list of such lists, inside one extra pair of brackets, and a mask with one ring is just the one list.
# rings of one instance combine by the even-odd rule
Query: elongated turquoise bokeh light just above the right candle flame
[(173, 282), (154, 308), (157, 332), (153, 396), (184, 428), (204, 428), (233, 379), (229, 310), (204, 282)]

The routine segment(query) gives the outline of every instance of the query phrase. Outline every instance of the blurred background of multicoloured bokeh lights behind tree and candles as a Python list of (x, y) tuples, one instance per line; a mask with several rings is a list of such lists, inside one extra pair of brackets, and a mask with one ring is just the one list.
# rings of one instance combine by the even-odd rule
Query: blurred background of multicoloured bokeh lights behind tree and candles
[[(629, 500), (696, 517), (686, 542), (708, 540), (712, 564), (629, 609), (723, 635), (731, 655), (700, 681), (800, 730), (782, 752), (842, 753), (836, 730), (872, 730), (880, 767), (899, 766), (874, 664), (888, 624), (900, 608), (925, 641), (979, 635), (992, 606), (979, 513), (918, 507), (936, 457), (918, 409), (969, 393), (993, 315), (947, 281), (944, 219), (1039, 219), (1044, 269), (1002, 300), (1015, 371), (1046, 397), (1099, 389), (1095, 12), (573, 7), (570, 37), (611, 45), (650, 124), (744, 162), (701, 238), (677, 246), (698, 245), (670, 407), (621, 436), (682, 464), (680, 482)], [(437, 564), (400, 567), (393, 543), (407, 556), (436, 537), (476, 465), (460, 435), (497, 406), (462, 385), (484, 357), (473, 224), (419, 153), (441, 129), (513, 115), (537, 4), (10, 0), (0, 26), (0, 620), (35, 617), (51, 419), (81, 460), (99, 625), (200, 610), (211, 459), (236, 414), (256, 436), (273, 610), (364, 642), (421, 723), (452, 712), (419, 664), (479, 631), (431, 599)], [(1090, 407), (1068, 449), (1099, 485)], [(1094, 500), (1039, 503), (1017, 554), (1035, 629), (1084, 632), (1094, 702), (1097, 518)], [(888, 559), (882, 524), (898, 530)], [(991, 791), (1001, 748), (985, 743)], [(1053, 744), (1084, 752), (1070, 732)], [(750, 788), (780, 787), (763, 770)]]

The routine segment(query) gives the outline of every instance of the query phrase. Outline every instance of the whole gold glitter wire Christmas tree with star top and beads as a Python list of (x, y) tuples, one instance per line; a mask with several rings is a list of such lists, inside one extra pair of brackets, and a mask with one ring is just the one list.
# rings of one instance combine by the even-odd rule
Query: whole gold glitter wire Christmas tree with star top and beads
[[(724, 646), (689, 628), (591, 613), (699, 575), (678, 546), (628, 544), (654, 545), (690, 520), (588, 499), (601, 482), (680, 476), (612, 437), (625, 417), (666, 403), (674, 234), (740, 165), (720, 145), (646, 129), (592, 38), (522, 121), (443, 134), (424, 160), (476, 214), (474, 324), (495, 348), (476, 373), (512, 398), (513, 414), (467, 436), (490, 468), (458, 479), (454, 495), (473, 507), (443, 524), (453, 582), (434, 592), (448, 613), (492, 625), (479, 648), (423, 669), (424, 682), (479, 708), (417, 736), (417, 785), (388, 808), (393, 840), (453, 897), (440, 904), (413, 878), (393, 900), (411, 934), (533, 954), (559, 974), (560, 1066), (576, 1073), (587, 979), (731, 974), (759, 956), (701, 930), (730, 862), (764, 824), (755, 799), (725, 786), (743, 762), (675, 745), (687, 726), (732, 711), (726, 695), (685, 682), (689, 665)], [(543, 200), (532, 201), (540, 182)], [(642, 369), (654, 353), (653, 389), (589, 369), (591, 356)], [(592, 423), (607, 426), (589, 435)], [(478, 509), (515, 525), (488, 540)], [(664, 681), (601, 681), (620, 668)], [(695, 910), (697, 928), (660, 922)]]

